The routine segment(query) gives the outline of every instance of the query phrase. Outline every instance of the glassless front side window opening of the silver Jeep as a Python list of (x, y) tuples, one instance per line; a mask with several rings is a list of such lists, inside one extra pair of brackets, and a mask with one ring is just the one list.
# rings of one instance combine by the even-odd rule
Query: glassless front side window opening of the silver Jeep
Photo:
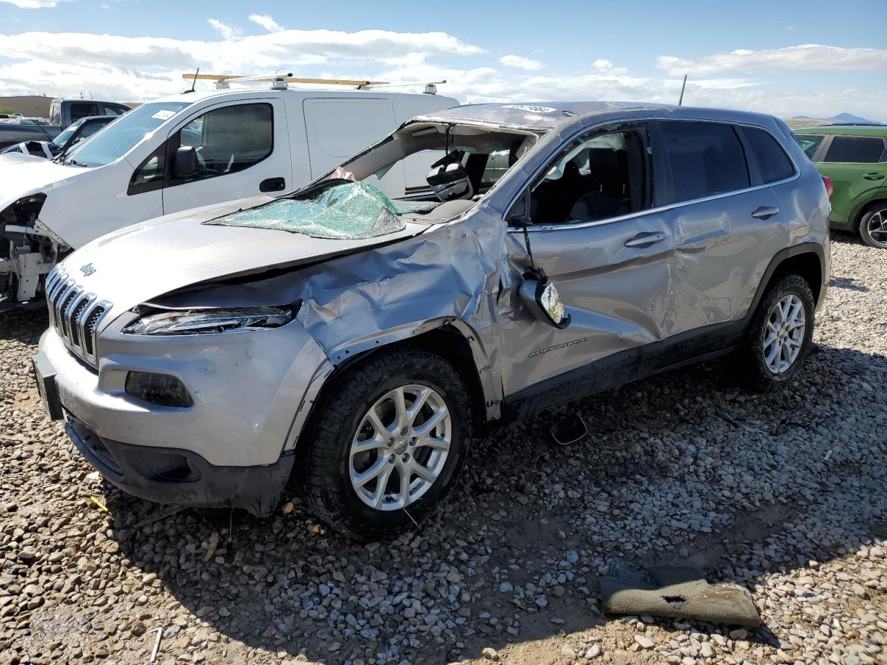
[(647, 126), (593, 132), (565, 147), (530, 193), (538, 224), (593, 222), (650, 207)]

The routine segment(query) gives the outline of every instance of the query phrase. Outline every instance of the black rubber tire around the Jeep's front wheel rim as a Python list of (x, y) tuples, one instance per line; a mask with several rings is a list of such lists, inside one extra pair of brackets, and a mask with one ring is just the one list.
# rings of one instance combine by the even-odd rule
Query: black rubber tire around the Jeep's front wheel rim
[[(450, 449), (425, 494), (405, 509), (377, 510), (352, 487), (351, 443), (373, 404), (390, 390), (410, 384), (433, 388), (443, 397), (450, 414)], [(418, 348), (383, 351), (358, 364), (336, 381), (317, 408), (306, 447), (297, 453), (295, 480), (320, 519), (361, 540), (400, 535), (415, 528), (413, 520), (420, 523), (433, 512), (457, 476), (471, 439), (471, 410), (459, 372), (440, 356)]]

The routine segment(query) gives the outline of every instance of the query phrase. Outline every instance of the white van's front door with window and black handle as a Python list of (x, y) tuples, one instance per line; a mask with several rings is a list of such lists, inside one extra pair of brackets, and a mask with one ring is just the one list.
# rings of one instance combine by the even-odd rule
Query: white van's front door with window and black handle
[[(176, 153), (191, 146), (196, 171), (176, 173)], [(173, 129), (166, 143), (163, 214), (292, 189), (292, 156), (283, 102), (239, 99), (204, 109)]]

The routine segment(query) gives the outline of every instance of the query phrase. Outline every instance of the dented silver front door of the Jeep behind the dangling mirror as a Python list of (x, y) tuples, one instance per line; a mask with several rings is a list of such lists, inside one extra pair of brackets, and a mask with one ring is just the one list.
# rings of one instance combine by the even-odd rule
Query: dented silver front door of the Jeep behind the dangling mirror
[[(546, 203), (544, 196), (531, 200), (536, 196), (533, 192), (523, 199), (530, 219), (520, 214), (520, 204), (518, 214), (513, 209), (508, 217), (506, 256), (512, 273), (544, 270), (571, 317), (562, 329), (540, 321), (522, 306), (516, 288), (500, 299), (499, 324), (508, 359), (502, 370), (504, 392), (510, 402), (522, 403), (525, 411), (563, 402), (564, 391), (574, 398), (601, 385), (632, 379), (640, 348), (662, 339), (670, 312), (675, 240), (670, 217), (648, 209), (654, 160), (647, 149), (646, 127), (634, 131), (640, 145), (635, 138), (618, 145), (625, 145), (632, 159), (645, 163), (624, 170), (633, 179), (634, 192), (625, 192), (633, 201), (616, 201), (616, 215), (583, 220), (581, 211), (569, 212), (564, 218), (562, 210), (569, 209), (569, 203), (557, 209), (563, 192), (600, 203), (603, 199), (597, 191), (601, 188), (620, 191), (619, 186), (589, 179), (595, 175), (595, 169), (587, 166), (591, 158), (577, 153), (573, 142), (564, 152), (572, 155), (574, 166), (577, 161), (582, 164), (579, 176), (586, 180), (574, 178), (569, 190), (558, 183), (538, 186), (536, 192), (553, 186), (556, 196), (548, 198), (552, 203)], [(614, 155), (604, 157), (612, 160)], [(624, 163), (624, 155), (616, 157)], [(560, 168), (566, 177), (571, 167)], [(554, 167), (549, 173), (553, 171)], [(640, 179), (643, 188), (638, 190)], [(625, 205), (645, 209), (626, 213)], [(599, 213), (606, 208), (595, 204)], [(525, 228), (523, 221), (529, 221)]]

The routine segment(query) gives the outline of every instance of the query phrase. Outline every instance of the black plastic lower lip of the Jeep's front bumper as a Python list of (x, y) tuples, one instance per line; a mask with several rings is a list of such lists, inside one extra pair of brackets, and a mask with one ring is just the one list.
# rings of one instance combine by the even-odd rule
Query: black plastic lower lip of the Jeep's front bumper
[(271, 465), (216, 466), (190, 450), (103, 439), (71, 414), (65, 416), (67, 435), (107, 481), (161, 504), (243, 508), (260, 517), (277, 507), (293, 470), (293, 451)]

